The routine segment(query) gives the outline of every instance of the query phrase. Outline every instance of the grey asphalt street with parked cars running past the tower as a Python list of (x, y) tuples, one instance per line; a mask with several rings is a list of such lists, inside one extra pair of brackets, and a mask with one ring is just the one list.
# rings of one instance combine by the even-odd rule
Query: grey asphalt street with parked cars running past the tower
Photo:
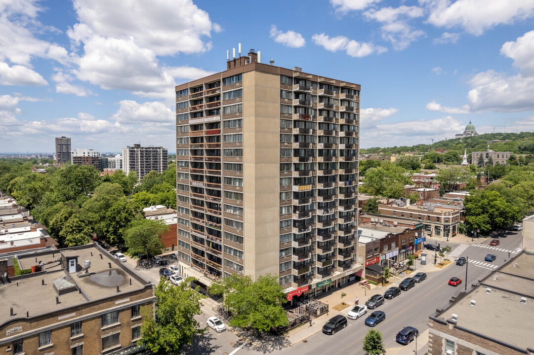
[[(481, 239), (481, 243), (466, 246), (440, 241), (441, 246), (451, 245), (453, 248), (450, 254), (456, 255), (446, 259), (455, 260), (459, 256), (468, 257), (467, 264), (467, 282), (466, 266), (451, 264), (442, 270), (431, 271), (427, 273), (427, 279), (409, 291), (402, 292), (393, 300), (386, 300), (386, 303), (379, 306), (377, 310), (386, 312), (386, 320), (382, 321), (375, 328), (383, 334), (386, 349), (398, 348), (403, 346), (395, 341), (395, 335), (404, 326), (413, 326), (422, 333), (428, 328), (428, 316), (436, 311), (436, 308), (442, 308), (454, 294), (463, 291), (465, 285), (469, 289), (472, 283), (477, 279), (482, 279), (489, 275), (498, 266), (502, 265), (508, 259), (508, 251), (517, 252), (521, 247), (520, 236), (515, 232), (505, 232), (498, 238), (500, 245), (490, 247), (491, 239)], [(431, 243), (427, 240), (427, 243)], [(457, 249), (459, 248), (459, 249)], [(455, 253), (456, 251), (456, 253)], [(429, 256), (432, 255), (429, 251)], [(492, 263), (484, 262), (486, 254), (493, 254), (497, 259)], [(512, 253), (512, 256), (514, 253)], [(438, 256), (439, 258), (439, 256)], [(428, 261), (433, 262), (433, 258), (428, 257)], [(447, 283), (451, 277), (459, 277), (462, 284), (458, 287), (449, 286)], [(385, 291), (385, 290), (384, 290)], [(365, 301), (365, 300), (362, 300)], [(346, 310), (345, 313), (348, 312)], [(371, 311), (372, 312), (372, 311)], [(368, 312), (370, 313), (370, 312)], [(209, 315), (206, 315), (206, 318)], [(364, 324), (365, 317), (357, 320), (349, 319), (349, 326), (339, 330), (332, 336), (325, 335), (321, 332), (310, 336), (306, 343), (300, 342), (293, 346), (281, 340), (264, 338), (263, 341), (256, 341), (256, 345), (249, 344), (245, 341), (238, 341), (238, 337), (229, 331), (224, 333), (214, 333), (210, 330), (208, 337), (199, 343), (196, 343), (186, 354), (205, 355), (211, 353), (280, 353), (293, 355), (295, 353), (318, 353), (328, 355), (340, 354), (363, 354), (362, 342), (369, 327)], [(205, 325), (205, 323), (203, 324)], [(241, 346), (241, 347), (240, 347)], [(415, 344), (410, 345), (412, 348)], [(420, 349), (418, 349), (419, 352)]]

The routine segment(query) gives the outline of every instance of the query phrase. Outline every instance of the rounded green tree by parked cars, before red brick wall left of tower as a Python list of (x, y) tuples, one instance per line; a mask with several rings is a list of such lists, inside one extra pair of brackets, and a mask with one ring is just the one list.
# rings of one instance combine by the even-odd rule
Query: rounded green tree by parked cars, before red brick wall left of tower
[(132, 255), (159, 255), (164, 248), (161, 236), (168, 230), (168, 225), (161, 220), (134, 220), (124, 233), (124, 244)]

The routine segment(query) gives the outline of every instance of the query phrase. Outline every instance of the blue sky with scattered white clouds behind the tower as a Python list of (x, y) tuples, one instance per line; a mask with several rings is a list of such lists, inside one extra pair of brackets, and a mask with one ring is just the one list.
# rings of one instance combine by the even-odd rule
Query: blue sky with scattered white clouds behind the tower
[(0, 151), (175, 149), (226, 50), (362, 85), (361, 144), (534, 130), (534, 0), (0, 1)]

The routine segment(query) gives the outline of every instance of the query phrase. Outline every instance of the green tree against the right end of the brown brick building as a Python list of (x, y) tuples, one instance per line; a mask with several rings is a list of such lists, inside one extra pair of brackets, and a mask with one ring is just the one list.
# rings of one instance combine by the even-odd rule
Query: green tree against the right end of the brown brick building
[(141, 338), (137, 344), (145, 345), (154, 354), (181, 354), (184, 346), (193, 343), (195, 336), (206, 332), (194, 318), (202, 314), (202, 296), (190, 287), (191, 280), (174, 286), (161, 278), (154, 291), (158, 321), (152, 315), (152, 307), (144, 306)]

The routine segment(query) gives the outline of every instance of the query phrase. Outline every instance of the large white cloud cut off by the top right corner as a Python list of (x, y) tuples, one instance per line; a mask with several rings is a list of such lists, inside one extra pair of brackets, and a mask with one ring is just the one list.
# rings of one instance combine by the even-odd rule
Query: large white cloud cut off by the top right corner
[(419, 0), (429, 11), (427, 21), (437, 27), (462, 27), (468, 33), (482, 35), (497, 25), (511, 25), (534, 14), (532, 0)]

